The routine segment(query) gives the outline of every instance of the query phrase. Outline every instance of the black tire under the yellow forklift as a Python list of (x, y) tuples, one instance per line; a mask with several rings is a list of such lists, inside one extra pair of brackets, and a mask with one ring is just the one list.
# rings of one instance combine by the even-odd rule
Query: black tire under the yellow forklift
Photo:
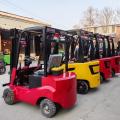
[(87, 94), (89, 91), (89, 85), (86, 81), (78, 81), (77, 92), (79, 94)]

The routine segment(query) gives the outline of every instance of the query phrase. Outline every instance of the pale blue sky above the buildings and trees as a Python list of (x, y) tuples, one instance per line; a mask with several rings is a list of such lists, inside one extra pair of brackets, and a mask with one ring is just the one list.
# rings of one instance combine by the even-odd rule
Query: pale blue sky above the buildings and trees
[(89, 6), (120, 8), (120, 0), (0, 0), (0, 10), (39, 19), (60, 29), (78, 24)]

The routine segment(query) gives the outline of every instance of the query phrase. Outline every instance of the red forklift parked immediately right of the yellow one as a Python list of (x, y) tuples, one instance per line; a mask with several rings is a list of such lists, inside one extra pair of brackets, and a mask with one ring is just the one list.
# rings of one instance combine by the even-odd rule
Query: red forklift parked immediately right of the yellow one
[[(107, 39), (104, 35), (100, 35), (98, 33), (92, 33), (91, 40), (95, 42), (95, 58), (100, 61), (100, 80), (101, 83), (109, 80), (112, 77), (111, 72), (111, 59), (108, 56), (109, 45), (107, 43)], [(89, 36), (90, 37), (90, 36)]]

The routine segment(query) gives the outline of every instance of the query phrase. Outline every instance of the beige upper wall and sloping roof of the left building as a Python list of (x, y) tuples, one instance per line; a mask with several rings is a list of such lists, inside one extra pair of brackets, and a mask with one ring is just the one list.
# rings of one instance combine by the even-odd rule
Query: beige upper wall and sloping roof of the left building
[(51, 26), (51, 25), (41, 20), (35, 20), (33, 18), (23, 17), (23, 16), (0, 11), (0, 28), (24, 29), (26, 27), (31, 27), (31, 26)]

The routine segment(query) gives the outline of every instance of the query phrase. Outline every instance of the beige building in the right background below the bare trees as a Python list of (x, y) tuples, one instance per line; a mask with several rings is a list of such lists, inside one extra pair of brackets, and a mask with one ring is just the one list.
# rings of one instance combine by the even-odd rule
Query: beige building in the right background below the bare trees
[(115, 42), (120, 41), (120, 24), (107, 25), (107, 26), (95, 26), (83, 28), (83, 30), (93, 33), (100, 33), (103, 35), (111, 35), (115, 37)]

